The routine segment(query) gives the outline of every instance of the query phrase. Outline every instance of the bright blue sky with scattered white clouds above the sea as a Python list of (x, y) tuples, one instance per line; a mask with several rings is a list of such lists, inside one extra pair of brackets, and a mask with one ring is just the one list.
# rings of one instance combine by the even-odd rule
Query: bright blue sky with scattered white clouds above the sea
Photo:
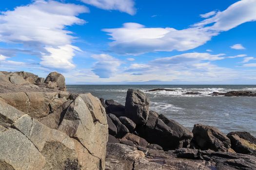
[(2, 0), (0, 70), (69, 85), (255, 85), (256, 0)]

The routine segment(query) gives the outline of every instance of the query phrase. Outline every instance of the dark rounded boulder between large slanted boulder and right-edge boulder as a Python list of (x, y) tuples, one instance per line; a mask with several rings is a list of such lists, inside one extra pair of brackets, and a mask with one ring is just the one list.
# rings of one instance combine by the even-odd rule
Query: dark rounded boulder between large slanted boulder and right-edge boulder
[(230, 139), (216, 127), (195, 124), (193, 128), (193, 142), (201, 150), (227, 152), (230, 148)]

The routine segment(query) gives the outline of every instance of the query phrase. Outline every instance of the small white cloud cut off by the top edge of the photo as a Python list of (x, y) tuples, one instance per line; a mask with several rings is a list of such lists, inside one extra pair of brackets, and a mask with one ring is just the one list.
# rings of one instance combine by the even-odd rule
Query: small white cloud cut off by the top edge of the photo
[(134, 0), (81, 0), (84, 3), (96, 6), (105, 10), (118, 10), (130, 15), (136, 14)]

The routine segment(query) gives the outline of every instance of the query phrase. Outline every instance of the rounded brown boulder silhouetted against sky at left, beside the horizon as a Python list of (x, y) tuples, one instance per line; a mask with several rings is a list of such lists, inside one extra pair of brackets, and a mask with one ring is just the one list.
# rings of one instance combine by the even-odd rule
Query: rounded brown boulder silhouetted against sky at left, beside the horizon
[(58, 72), (49, 73), (44, 83), (48, 84), (48, 87), (50, 88), (62, 91), (66, 90), (65, 78), (62, 74), (59, 74)]

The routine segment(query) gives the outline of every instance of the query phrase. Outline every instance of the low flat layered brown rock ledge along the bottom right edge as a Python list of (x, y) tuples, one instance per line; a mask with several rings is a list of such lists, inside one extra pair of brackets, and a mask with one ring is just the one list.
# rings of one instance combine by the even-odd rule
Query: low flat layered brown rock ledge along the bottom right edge
[(255, 170), (256, 157), (193, 149), (168, 152), (107, 144), (106, 170)]

